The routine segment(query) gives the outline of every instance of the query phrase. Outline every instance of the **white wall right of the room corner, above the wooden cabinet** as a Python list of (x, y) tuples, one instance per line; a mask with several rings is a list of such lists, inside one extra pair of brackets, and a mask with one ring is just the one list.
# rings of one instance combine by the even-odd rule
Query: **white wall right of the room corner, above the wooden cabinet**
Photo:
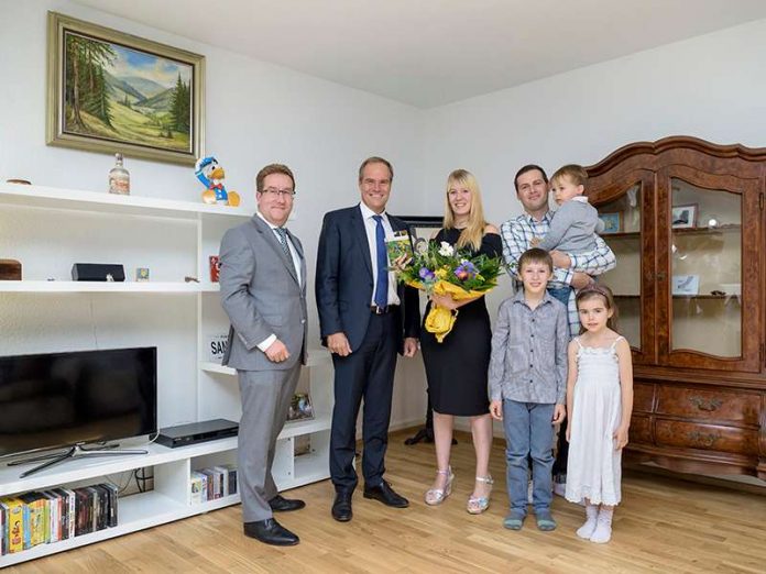
[(457, 167), (479, 178), (489, 219), (501, 223), (521, 213), (513, 176), (528, 163), (552, 173), (668, 135), (766, 146), (765, 60), (760, 20), (428, 110), (426, 207), (441, 211)]

